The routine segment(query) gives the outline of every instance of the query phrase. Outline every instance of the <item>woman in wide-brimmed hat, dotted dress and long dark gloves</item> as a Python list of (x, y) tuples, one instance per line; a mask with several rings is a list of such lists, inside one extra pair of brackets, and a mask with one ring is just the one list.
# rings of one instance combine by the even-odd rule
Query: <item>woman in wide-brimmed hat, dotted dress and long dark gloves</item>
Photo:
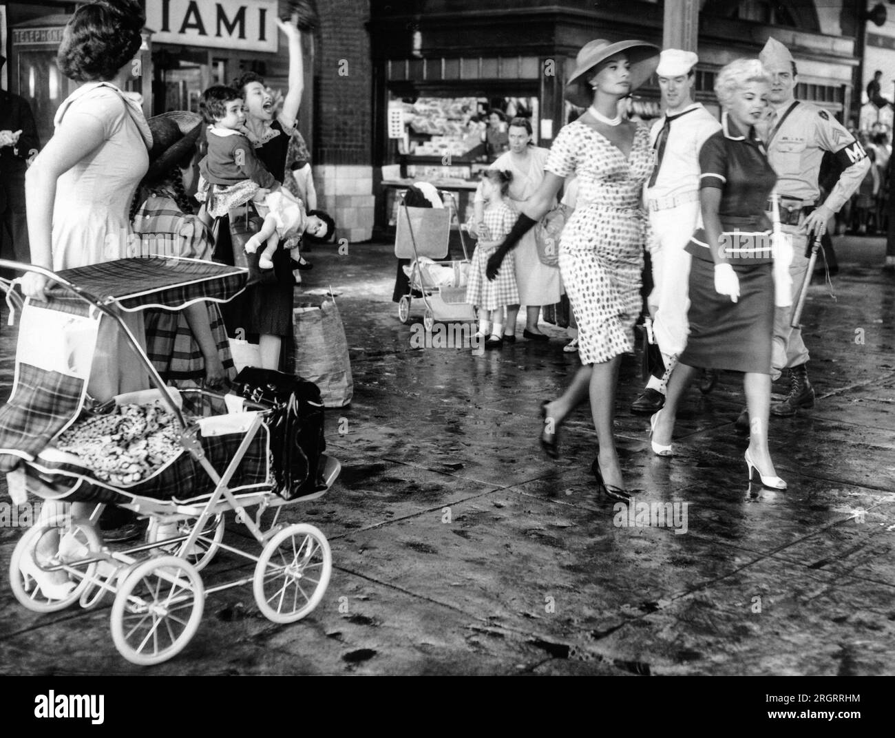
[(640, 312), (645, 215), (644, 181), (652, 171), (649, 129), (623, 120), (618, 102), (659, 64), (659, 48), (643, 41), (598, 39), (578, 53), (566, 98), (587, 111), (553, 141), (540, 189), (521, 208), (513, 232), (491, 257), (490, 275), (504, 255), (544, 216), (565, 179), (578, 177), (578, 201), (559, 243), (559, 270), (578, 321), (582, 367), (566, 392), (541, 404), (540, 442), (558, 457), (558, 426), (590, 395), (600, 443), (592, 472), (598, 488), (629, 499), (612, 435), (621, 354), (634, 348)]

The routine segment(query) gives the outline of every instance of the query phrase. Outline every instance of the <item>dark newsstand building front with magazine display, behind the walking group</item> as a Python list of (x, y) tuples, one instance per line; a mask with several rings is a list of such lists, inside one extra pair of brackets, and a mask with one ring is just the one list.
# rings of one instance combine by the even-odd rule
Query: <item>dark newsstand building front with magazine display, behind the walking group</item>
[[(847, 119), (858, 64), (857, 24), (849, 23), (857, 13), (854, 4), (690, 4), (698, 4), (699, 11), (697, 100), (717, 113), (715, 74), (739, 56), (757, 56), (773, 36), (797, 59), (797, 96)], [(535, 140), (549, 147), (573, 113), (563, 89), (587, 41), (640, 38), (661, 46), (663, 38), (664, 4), (658, 0), (371, 0), (370, 5), (372, 153), (377, 180), (384, 177), (387, 183), (423, 176), (458, 189), (456, 180), (473, 179), (489, 159), (475, 146), (475, 119), (495, 108), (524, 110)], [(659, 100), (653, 79), (637, 90), (631, 111), (643, 118), (660, 115)], [(380, 167), (386, 167), (384, 174)], [(377, 191), (378, 225), (385, 225), (392, 199), (388, 187)]]

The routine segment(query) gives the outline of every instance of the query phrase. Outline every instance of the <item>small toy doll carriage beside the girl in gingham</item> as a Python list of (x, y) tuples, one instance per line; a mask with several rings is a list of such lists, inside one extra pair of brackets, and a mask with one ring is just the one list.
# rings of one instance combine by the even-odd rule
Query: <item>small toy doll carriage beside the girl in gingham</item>
[(413, 208), (407, 204), (405, 193), (398, 208), (395, 256), (412, 259), (404, 267), (409, 291), (397, 303), (397, 317), (402, 323), (410, 319), (413, 299), (422, 299), (425, 309), (422, 323), (430, 331), (436, 320), (468, 322), (475, 320), (473, 306), (466, 302), (466, 279), (469, 275), (469, 253), (463, 230), (460, 245), (463, 260), (435, 261), (447, 256), (451, 222), (456, 217), (456, 201), (450, 193), (444, 195), (445, 208)]

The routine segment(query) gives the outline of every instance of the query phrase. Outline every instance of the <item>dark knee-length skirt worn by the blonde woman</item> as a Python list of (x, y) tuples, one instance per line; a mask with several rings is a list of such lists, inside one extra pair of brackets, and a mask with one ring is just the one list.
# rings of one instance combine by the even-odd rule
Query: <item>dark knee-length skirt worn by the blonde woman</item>
[(735, 264), (739, 300), (715, 292), (714, 263), (690, 267), (690, 335), (679, 361), (702, 369), (771, 374), (774, 279), (770, 262)]

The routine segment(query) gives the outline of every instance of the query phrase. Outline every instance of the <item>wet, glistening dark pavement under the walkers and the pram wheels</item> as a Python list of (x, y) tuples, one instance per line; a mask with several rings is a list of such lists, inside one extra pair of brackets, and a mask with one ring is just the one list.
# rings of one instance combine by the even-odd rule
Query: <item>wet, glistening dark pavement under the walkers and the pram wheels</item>
[[(109, 606), (37, 615), (4, 584), (0, 671), (895, 673), (895, 277), (879, 268), (881, 241), (857, 246), (851, 257), (839, 250), (837, 300), (818, 283), (805, 308), (814, 410), (771, 423), (788, 490), (746, 480), (732, 373), (711, 394), (690, 390), (677, 456), (650, 453), (648, 417), (627, 410), (642, 388), (631, 356), (616, 428), (632, 510), (595, 494), (586, 407), (562, 429), (559, 461), (537, 445), (541, 401), (578, 364), (562, 351), (565, 330), (545, 324), (552, 340), (533, 344), (520, 327), (515, 345), (482, 355), (468, 343), (417, 348), (419, 329), (399, 323), (390, 300), (391, 245), (352, 245), (346, 256), (317, 247), (300, 299), (332, 286), (354, 371), (354, 402), (328, 411), (341, 478), (285, 513), (329, 539), (320, 606), (277, 625), (251, 586), (210, 596), (183, 653), (145, 669), (119, 657)], [(13, 346), (4, 325), (4, 395)], [(242, 536), (233, 520), (227, 531)], [(0, 530), (4, 572), (20, 535)], [(202, 579), (251, 569), (225, 553)]]

